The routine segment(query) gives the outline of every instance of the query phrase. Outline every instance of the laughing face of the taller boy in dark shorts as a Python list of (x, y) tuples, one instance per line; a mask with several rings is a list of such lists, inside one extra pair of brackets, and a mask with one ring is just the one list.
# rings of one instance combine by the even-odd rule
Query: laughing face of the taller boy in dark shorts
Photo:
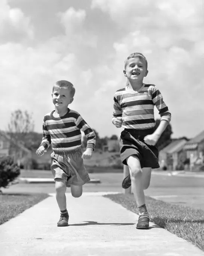
[(132, 82), (142, 82), (148, 74), (144, 59), (139, 57), (127, 59), (123, 72), (128, 80)]

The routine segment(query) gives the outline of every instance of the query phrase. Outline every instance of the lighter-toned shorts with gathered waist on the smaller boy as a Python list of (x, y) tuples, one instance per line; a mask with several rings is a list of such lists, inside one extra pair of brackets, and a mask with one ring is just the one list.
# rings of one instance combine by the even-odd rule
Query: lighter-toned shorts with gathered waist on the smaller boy
[(51, 153), (51, 171), (54, 179), (65, 180), (66, 187), (70, 187), (72, 184), (82, 186), (90, 181), (83, 164), (80, 148), (63, 152), (53, 151)]

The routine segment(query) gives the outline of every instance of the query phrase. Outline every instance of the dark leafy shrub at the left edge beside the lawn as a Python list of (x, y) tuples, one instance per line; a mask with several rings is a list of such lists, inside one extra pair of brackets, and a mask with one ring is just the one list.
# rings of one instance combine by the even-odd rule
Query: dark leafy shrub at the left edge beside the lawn
[(7, 187), (9, 183), (20, 175), (20, 168), (11, 157), (0, 157), (0, 188)]

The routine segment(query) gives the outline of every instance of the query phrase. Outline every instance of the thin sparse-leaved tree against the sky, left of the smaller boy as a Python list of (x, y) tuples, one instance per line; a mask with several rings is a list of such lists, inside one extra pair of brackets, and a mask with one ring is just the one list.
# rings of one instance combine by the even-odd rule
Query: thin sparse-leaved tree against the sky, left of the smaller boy
[(8, 125), (9, 135), (18, 142), (25, 141), (26, 134), (34, 130), (32, 115), (27, 111), (15, 110)]

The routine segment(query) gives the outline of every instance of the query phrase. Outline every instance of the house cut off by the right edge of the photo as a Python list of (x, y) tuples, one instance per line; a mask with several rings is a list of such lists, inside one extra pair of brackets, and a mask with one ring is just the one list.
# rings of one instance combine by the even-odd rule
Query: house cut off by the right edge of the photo
[(189, 140), (183, 149), (186, 151), (186, 156), (190, 160), (191, 169), (193, 169), (194, 165), (201, 165), (204, 155), (204, 131)]

